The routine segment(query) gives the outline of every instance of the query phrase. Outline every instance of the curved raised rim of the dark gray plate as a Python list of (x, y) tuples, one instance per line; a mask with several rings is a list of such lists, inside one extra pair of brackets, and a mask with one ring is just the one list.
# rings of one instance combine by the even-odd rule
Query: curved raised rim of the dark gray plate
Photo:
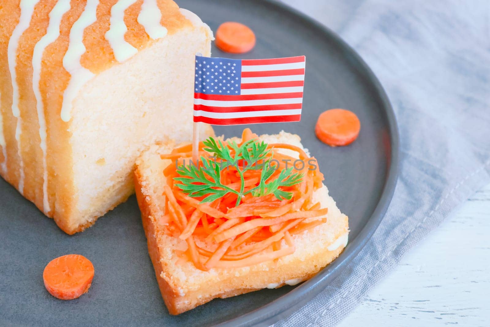
[(291, 7), (290, 5), (280, 2), (279, 0), (262, 0), (262, 2), (265, 2), (270, 6), (275, 6), (277, 9), (283, 12), (288, 12), (289, 14), (296, 16), (298, 20), (303, 21), (305, 25), (310, 25), (313, 28), (316, 28), (324, 35), (329, 35), (329, 37), (332, 38), (341, 49), (349, 52), (349, 54), (353, 56), (353, 59), (357, 61), (359, 67), (361, 67), (364, 71), (364, 75), (368, 77), (368, 80), (377, 91), (380, 101), (385, 108), (384, 112), (386, 114), (390, 131), (389, 137), (391, 153), (389, 157), (387, 157), (390, 167), (388, 169), (381, 197), (376, 204), (376, 207), (374, 208), (371, 216), (368, 218), (367, 224), (362, 228), (357, 237), (346, 246), (345, 249), (347, 251), (344, 250), (343, 253), (341, 253), (341, 256), (343, 256), (341, 261), (338, 261), (338, 259), (334, 260), (326, 268), (321, 270), (315, 277), (305, 281), (276, 300), (263, 305), (260, 308), (247, 312), (239, 317), (224, 321), (216, 326), (270, 326), (281, 319), (287, 318), (294, 311), (300, 309), (306, 305), (307, 302), (313, 300), (331, 281), (339, 276), (339, 274), (343, 271), (343, 268), (357, 256), (357, 254), (364, 248), (376, 231), (392, 201), (400, 166), (399, 129), (392, 104), (380, 81), (376, 75), (374, 75), (368, 64), (359, 55), (359, 53), (357, 53), (356, 50), (348, 45), (332, 29), (306, 15), (305, 13)]

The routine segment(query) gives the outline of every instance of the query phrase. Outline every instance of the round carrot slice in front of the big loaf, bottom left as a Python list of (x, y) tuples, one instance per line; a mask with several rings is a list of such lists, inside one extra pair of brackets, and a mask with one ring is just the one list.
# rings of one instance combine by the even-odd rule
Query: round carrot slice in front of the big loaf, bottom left
[(43, 272), (44, 286), (60, 300), (73, 300), (87, 293), (94, 278), (94, 265), (80, 254), (51, 260)]

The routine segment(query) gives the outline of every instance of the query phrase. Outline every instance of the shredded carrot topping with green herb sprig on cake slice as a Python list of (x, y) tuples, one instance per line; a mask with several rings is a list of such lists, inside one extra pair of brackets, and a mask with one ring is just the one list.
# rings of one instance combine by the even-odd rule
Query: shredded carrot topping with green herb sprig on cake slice
[[(163, 171), (167, 180), (165, 222), (187, 242), (187, 250), (177, 253), (187, 256), (197, 269), (239, 268), (276, 260), (294, 253), (291, 235), (326, 222), (328, 209), (312, 200), (323, 175), (316, 159), (301, 148), (282, 143), (262, 143), (261, 148), (258, 136), (249, 128), (245, 128), (240, 144), (218, 139), (207, 142), (199, 143), (199, 156), (219, 157), (220, 153), (213, 152), (225, 149), (221, 156), (237, 160), (223, 166), (201, 161), (193, 163), (194, 169), (184, 170), (192, 145), (161, 156), (172, 161)], [(215, 151), (210, 151), (210, 144), (216, 146)], [(281, 150), (292, 150), (297, 157)], [(245, 159), (253, 155), (262, 161), (250, 167)], [(304, 167), (286, 170), (281, 160), (298, 157)], [(270, 167), (277, 168), (273, 172), (264, 164), (272, 159)], [(306, 223), (308, 218), (315, 220)]]

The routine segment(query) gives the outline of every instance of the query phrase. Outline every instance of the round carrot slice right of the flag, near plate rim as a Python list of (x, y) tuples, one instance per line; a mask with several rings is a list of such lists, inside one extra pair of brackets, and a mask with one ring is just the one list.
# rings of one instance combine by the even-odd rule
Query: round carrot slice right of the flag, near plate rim
[(324, 111), (315, 126), (315, 134), (319, 140), (332, 147), (351, 144), (360, 130), (359, 118), (352, 111), (345, 109)]

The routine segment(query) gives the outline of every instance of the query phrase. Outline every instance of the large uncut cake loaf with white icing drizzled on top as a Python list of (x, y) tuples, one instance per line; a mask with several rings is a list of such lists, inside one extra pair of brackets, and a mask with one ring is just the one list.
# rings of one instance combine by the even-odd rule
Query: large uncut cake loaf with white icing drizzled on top
[(0, 22), (0, 175), (73, 234), (134, 192), (142, 150), (189, 139), (212, 32), (172, 0), (6, 0)]

